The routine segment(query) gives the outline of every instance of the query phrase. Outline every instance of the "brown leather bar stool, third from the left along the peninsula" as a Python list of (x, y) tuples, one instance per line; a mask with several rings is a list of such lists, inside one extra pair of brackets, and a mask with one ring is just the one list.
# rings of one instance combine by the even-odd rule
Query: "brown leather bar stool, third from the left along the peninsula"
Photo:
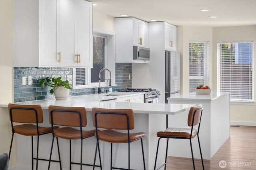
[[(130, 170), (130, 143), (140, 139), (142, 147), (142, 158), (144, 170), (145, 158), (143, 150), (142, 138), (145, 137), (145, 133), (130, 133), (130, 130), (134, 129), (134, 113), (132, 109), (102, 109), (92, 108), (92, 121), (96, 128), (95, 137), (97, 138), (97, 145), (99, 149), (99, 140), (111, 143), (111, 155), (110, 155), (110, 166), (112, 169), (119, 170)], [(106, 130), (98, 131), (98, 128), (104, 128)], [(127, 133), (122, 133), (115, 130), (127, 130)], [(113, 143), (128, 143), (128, 169), (112, 167), (112, 144)], [(94, 157), (94, 162), (96, 154)], [(93, 168), (94, 169), (94, 168)]]

